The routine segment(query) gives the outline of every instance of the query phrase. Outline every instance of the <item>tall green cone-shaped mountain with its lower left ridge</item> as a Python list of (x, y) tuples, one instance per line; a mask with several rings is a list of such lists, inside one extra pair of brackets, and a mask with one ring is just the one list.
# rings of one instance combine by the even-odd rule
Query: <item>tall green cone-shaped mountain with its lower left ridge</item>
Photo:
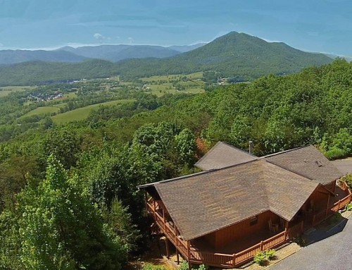
[(215, 70), (225, 77), (253, 80), (270, 73), (296, 73), (307, 66), (331, 63), (324, 54), (289, 47), (282, 42), (266, 42), (244, 33), (230, 32), (203, 47), (169, 59), (130, 59), (120, 63), (127, 76), (191, 73)]

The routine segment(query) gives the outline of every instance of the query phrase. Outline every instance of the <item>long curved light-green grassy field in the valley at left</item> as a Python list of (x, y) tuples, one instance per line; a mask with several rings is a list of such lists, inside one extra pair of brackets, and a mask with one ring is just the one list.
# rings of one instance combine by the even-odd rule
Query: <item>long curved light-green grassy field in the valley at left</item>
[(98, 109), (99, 106), (112, 106), (112, 105), (125, 104), (130, 102), (134, 102), (134, 99), (120, 99), (120, 100), (114, 100), (112, 102), (93, 104), (93, 105), (85, 106), (80, 109), (75, 109), (73, 111), (59, 113), (56, 116), (52, 116), (51, 118), (56, 124), (68, 123), (71, 121), (80, 121), (87, 118), (89, 116), (89, 113), (94, 109)]

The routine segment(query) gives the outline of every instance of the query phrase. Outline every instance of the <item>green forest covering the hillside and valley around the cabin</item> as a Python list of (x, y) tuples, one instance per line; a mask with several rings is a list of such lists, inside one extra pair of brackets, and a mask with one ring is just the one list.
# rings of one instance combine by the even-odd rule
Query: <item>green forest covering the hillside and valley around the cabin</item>
[[(0, 97), (0, 269), (126, 269), (150, 245), (137, 185), (197, 172), (223, 141), (261, 156), (315, 145), (329, 159), (352, 154), (352, 63), (337, 59), (292, 75), (155, 94), (108, 94), (80, 85), (63, 110), (107, 100), (82, 121), (25, 116), (29, 93)], [(98, 94), (100, 93), (100, 94)], [(84, 103), (86, 102), (86, 103)], [(32, 107), (30, 107), (32, 106)]]

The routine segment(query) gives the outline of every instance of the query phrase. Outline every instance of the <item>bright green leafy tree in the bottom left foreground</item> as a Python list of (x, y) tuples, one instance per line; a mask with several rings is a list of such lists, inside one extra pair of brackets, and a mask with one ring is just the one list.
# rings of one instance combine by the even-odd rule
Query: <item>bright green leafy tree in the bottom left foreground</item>
[(52, 155), (48, 164), (46, 179), (18, 195), (21, 262), (26, 269), (121, 269), (126, 250), (108, 238), (99, 213), (76, 190), (78, 179)]

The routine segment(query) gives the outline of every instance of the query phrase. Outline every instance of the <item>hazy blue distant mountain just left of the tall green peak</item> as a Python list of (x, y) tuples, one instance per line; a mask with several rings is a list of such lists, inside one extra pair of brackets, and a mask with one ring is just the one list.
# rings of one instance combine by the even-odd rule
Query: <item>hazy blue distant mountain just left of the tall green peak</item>
[(100, 45), (86, 47), (63, 47), (58, 51), (69, 51), (78, 56), (84, 56), (90, 59), (102, 59), (106, 61), (117, 62), (123, 59), (136, 58), (165, 58), (180, 54), (180, 51), (162, 46), (151, 45)]

